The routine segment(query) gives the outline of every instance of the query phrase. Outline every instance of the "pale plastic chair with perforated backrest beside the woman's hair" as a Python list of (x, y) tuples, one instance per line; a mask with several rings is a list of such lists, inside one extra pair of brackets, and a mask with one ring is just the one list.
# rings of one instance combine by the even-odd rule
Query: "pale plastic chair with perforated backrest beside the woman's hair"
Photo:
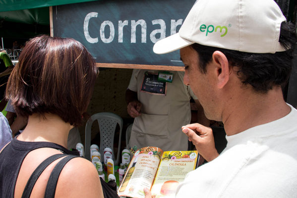
[[(119, 163), (119, 153), (120, 153), (120, 141), (121, 141), (121, 130), (123, 121), (122, 118), (119, 117), (117, 114), (111, 112), (101, 112), (96, 113), (91, 116), (86, 124), (85, 129), (85, 158), (90, 160), (90, 146), (91, 146), (91, 128), (93, 122), (97, 120), (100, 130), (100, 146), (99, 152), (104, 157), (104, 149), (106, 147), (110, 147), (113, 149), (113, 159), (115, 165)], [(116, 132), (116, 127), (119, 125), (119, 146), (118, 146), (118, 154), (117, 158), (115, 159), (115, 152), (114, 152), (114, 137)]]

